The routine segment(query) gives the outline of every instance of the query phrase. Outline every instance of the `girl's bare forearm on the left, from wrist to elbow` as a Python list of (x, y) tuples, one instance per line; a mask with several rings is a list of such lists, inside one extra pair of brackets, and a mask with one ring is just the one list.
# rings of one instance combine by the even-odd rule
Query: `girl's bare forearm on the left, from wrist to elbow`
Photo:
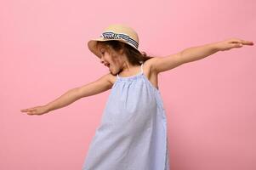
[(77, 95), (77, 88), (73, 88), (67, 91), (65, 94), (62, 94), (59, 98), (54, 99), (54, 101), (46, 105), (48, 111), (53, 111), (66, 105), (70, 105), (74, 101), (79, 99)]

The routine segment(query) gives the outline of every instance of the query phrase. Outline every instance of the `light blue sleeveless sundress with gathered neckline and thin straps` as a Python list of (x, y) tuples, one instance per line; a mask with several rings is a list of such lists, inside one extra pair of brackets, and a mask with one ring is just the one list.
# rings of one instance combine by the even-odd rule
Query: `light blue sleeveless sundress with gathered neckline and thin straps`
[(82, 170), (169, 170), (162, 97), (143, 63), (135, 76), (117, 74)]

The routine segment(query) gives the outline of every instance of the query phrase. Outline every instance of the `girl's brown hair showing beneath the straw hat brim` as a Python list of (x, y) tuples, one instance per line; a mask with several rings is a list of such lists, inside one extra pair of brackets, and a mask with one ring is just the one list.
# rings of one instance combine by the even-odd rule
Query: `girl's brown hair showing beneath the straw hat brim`
[(152, 56), (147, 55), (145, 52), (139, 53), (139, 51), (124, 42), (111, 40), (105, 42), (97, 42), (97, 45), (98, 44), (104, 45), (110, 54), (112, 54), (112, 50), (114, 50), (116, 53), (120, 53), (122, 50), (122, 53), (126, 54), (131, 65), (140, 65), (145, 60), (153, 58)]

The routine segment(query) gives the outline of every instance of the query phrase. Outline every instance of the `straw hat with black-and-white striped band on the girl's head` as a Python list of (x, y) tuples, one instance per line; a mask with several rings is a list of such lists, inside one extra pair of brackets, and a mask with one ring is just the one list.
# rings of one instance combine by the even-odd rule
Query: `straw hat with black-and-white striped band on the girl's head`
[(93, 38), (88, 41), (88, 48), (92, 53), (100, 58), (100, 52), (96, 48), (97, 41), (105, 42), (113, 40), (127, 43), (139, 51), (139, 37), (137, 32), (134, 31), (133, 28), (123, 24), (112, 24), (111, 26), (106, 27), (100, 34), (100, 37)]

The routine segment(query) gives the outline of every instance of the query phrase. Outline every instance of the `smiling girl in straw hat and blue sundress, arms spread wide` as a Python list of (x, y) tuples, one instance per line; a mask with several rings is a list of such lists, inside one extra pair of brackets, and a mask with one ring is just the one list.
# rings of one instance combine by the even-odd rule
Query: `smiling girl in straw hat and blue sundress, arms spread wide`
[(230, 38), (186, 48), (166, 57), (150, 57), (139, 52), (139, 37), (134, 29), (111, 25), (99, 38), (88, 42), (89, 50), (109, 67), (110, 73), (95, 82), (69, 90), (47, 105), (21, 111), (28, 115), (42, 115), (111, 88), (82, 169), (168, 170), (167, 120), (157, 75), (242, 45), (253, 45), (253, 42)]

